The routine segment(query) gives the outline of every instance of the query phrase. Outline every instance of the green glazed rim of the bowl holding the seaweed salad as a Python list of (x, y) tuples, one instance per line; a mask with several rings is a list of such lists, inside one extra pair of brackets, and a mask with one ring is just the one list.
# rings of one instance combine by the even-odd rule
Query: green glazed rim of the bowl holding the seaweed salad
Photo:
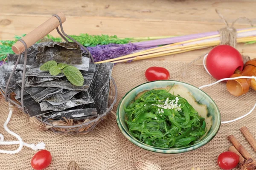
[[(145, 85), (145, 84), (150, 84), (152, 82), (160, 82), (160, 81), (169, 81), (169, 82), (178, 82), (181, 84), (186, 84), (186, 85), (190, 85), (194, 88), (197, 88), (198, 90), (200, 90), (202, 93), (206, 94), (209, 99), (213, 102), (213, 104), (215, 105), (215, 107), (217, 108), (217, 115), (219, 116), (219, 120), (217, 122), (216, 127), (213, 129), (212, 133), (204, 140), (192, 145), (192, 146), (187, 146), (187, 147), (180, 147), (180, 148), (160, 148), (160, 147), (154, 147), (154, 146), (150, 146), (148, 144), (145, 144), (143, 142), (140, 142), (139, 140), (135, 139), (134, 136), (131, 136), (126, 130), (125, 128), (121, 125), (121, 120), (119, 118), (119, 110), (120, 110), (120, 105), (123, 102), (123, 100), (125, 99), (125, 97), (134, 89)], [(218, 106), (216, 105), (215, 101), (204, 91), (202, 91), (200, 88), (195, 87), (194, 85), (191, 85), (189, 83), (186, 82), (180, 82), (180, 81), (176, 81), (176, 80), (156, 80), (156, 81), (151, 81), (151, 82), (145, 82), (143, 84), (137, 85), (136, 87), (132, 88), (130, 91), (128, 91), (125, 96), (122, 97), (122, 99), (120, 100), (117, 110), (116, 110), (116, 122), (117, 125), (119, 127), (119, 130), (122, 132), (122, 134), (126, 137), (126, 139), (128, 139), (130, 142), (132, 142), (133, 144), (135, 144), (137, 147), (141, 147), (145, 150), (154, 152), (154, 153), (163, 153), (163, 154), (177, 154), (177, 153), (185, 153), (185, 152), (189, 152), (191, 150), (195, 150), (198, 149), (199, 147), (204, 146), (205, 144), (209, 143), (218, 133), (218, 130), (221, 127), (221, 113), (219, 111)]]

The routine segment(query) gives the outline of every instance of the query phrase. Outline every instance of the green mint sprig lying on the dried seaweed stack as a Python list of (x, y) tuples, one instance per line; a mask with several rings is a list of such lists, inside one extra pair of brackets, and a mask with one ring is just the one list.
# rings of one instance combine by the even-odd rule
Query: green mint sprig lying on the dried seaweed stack
[(78, 68), (67, 65), (65, 63), (57, 63), (54, 60), (48, 61), (40, 66), (41, 71), (49, 71), (52, 76), (57, 76), (60, 73), (64, 73), (68, 81), (73, 85), (82, 86), (84, 84), (84, 77)]

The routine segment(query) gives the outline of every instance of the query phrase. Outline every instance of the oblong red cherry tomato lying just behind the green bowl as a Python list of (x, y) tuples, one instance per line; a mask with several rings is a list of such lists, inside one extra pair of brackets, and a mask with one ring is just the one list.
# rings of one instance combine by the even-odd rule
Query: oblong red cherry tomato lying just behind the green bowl
[(150, 67), (146, 70), (145, 76), (148, 81), (168, 80), (170, 78), (170, 73), (163, 67)]

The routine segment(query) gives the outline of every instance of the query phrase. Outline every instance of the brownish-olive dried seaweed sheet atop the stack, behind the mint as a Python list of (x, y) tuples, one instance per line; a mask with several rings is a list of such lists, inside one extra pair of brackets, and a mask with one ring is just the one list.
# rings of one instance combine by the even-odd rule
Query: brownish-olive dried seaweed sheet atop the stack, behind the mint
[(38, 47), (37, 62), (55, 60), (69, 65), (82, 64), (81, 48), (75, 42), (47, 42)]

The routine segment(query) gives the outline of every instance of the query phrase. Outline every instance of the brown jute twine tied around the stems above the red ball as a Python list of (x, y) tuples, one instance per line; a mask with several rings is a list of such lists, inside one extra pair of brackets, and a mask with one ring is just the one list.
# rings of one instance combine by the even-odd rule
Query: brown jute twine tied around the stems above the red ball
[[(250, 23), (250, 26), (253, 27), (252, 21), (246, 17), (239, 17), (236, 20), (233, 21), (233, 23), (231, 25), (229, 25), (227, 23), (227, 20), (223, 17), (223, 15), (217, 10), (215, 9), (216, 13), (219, 15), (219, 17), (223, 20), (223, 22), (225, 23), (226, 27), (221, 28), (218, 30), (219, 34), (220, 34), (220, 45), (230, 45), (234, 48), (236, 48), (236, 37), (237, 37), (237, 32), (236, 32), (236, 28), (234, 28), (234, 24), (238, 21), (238, 20), (246, 20)], [(206, 54), (203, 54), (202, 56), (196, 58), (195, 60), (193, 60), (192, 62), (189, 62), (188, 64), (185, 65), (183, 72), (181, 74), (181, 77), (185, 77), (186, 75), (186, 70), (187, 68), (194, 64), (195, 62), (197, 62), (199, 59), (203, 58)], [(244, 56), (242, 55), (244, 63), (246, 63), (247, 61), (250, 60), (249, 56)]]

